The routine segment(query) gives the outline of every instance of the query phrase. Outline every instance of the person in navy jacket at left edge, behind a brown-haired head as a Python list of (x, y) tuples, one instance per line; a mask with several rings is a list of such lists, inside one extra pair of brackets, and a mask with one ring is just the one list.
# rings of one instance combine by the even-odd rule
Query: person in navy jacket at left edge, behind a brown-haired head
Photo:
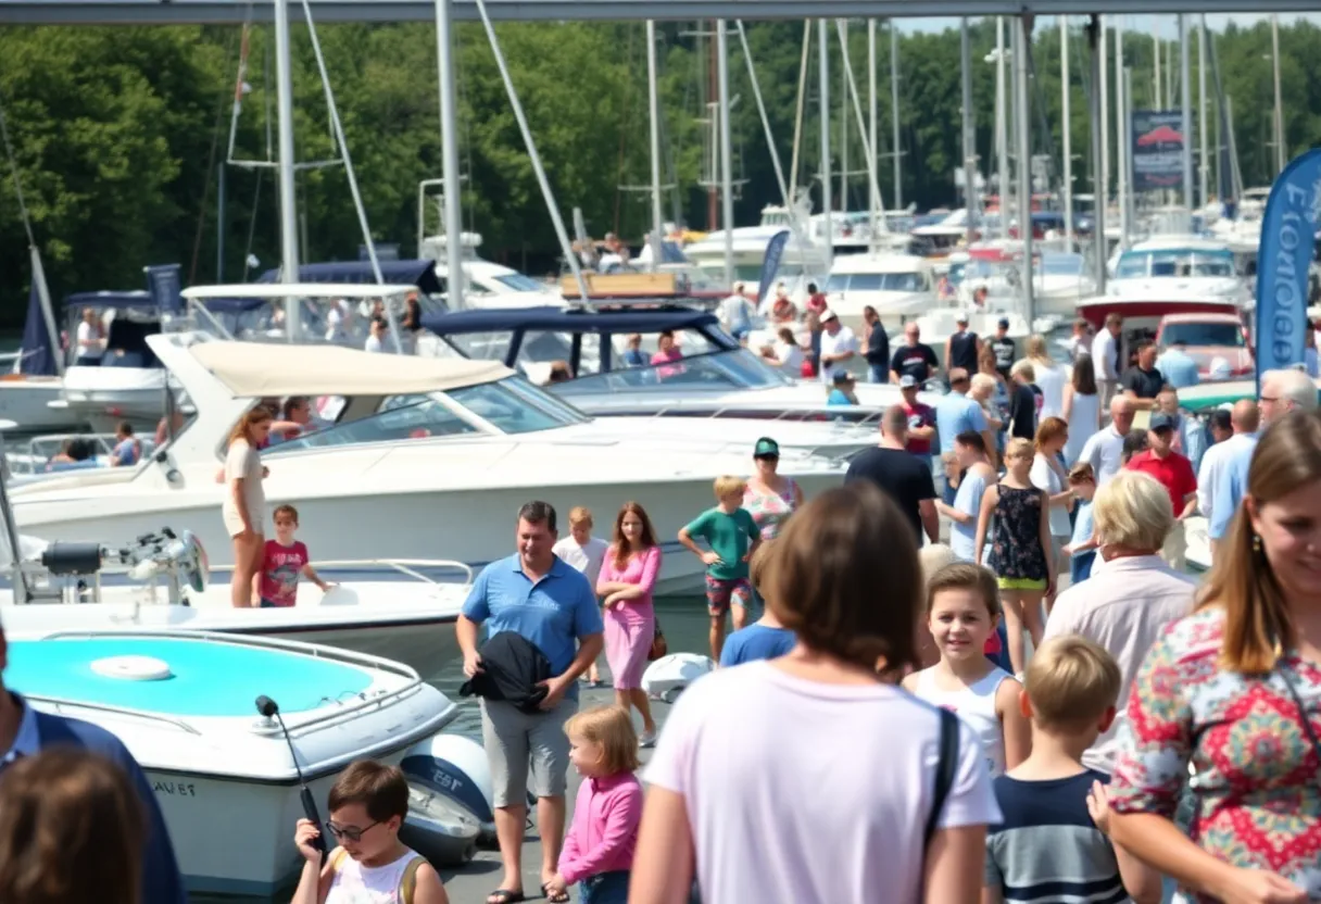
[[(9, 645), (0, 628), (0, 671), (4, 671), (8, 661)], [(185, 904), (188, 893), (184, 891), (184, 878), (174, 860), (174, 847), (165, 830), (156, 793), (123, 741), (100, 726), (34, 710), (22, 697), (0, 683), (0, 771), (18, 757), (37, 756), (48, 747), (79, 747), (99, 753), (128, 774), (147, 818), (141, 901)], [(77, 868), (77, 864), (70, 864), (70, 868)]]

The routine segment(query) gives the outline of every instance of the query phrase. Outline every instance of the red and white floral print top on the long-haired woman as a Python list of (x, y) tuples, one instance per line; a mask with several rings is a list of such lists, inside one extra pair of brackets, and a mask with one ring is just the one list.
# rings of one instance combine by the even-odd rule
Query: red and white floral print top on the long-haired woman
[[(1317, 900), (1321, 757), (1280, 667), (1221, 667), (1223, 628), (1221, 609), (1203, 609), (1172, 624), (1148, 653), (1122, 714), (1111, 806), (1172, 819), (1190, 784), (1194, 843), (1236, 867), (1277, 872)], [(1321, 667), (1292, 652), (1281, 665), (1321, 736)]]

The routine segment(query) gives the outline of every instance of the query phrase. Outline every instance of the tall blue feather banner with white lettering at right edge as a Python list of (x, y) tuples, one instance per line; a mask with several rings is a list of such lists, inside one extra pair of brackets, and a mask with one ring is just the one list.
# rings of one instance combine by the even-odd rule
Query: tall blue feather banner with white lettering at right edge
[(1308, 267), (1321, 223), (1321, 149), (1284, 168), (1262, 217), (1256, 268), (1256, 382), (1305, 361)]

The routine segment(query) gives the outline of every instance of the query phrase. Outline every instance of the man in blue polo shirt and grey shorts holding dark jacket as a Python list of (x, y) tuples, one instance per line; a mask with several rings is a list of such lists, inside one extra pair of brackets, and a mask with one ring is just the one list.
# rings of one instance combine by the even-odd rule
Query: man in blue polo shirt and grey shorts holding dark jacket
[[(564, 790), (569, 740), (564, 723), (577, 712), (577, 678), (601, 653), (602, 625), (596, 591), (588, 579), (555, 555), (555, 509), (528, 502), (518, 511), (518, 551), (491, 562), (473, 582), (456, 633), (464, 674), (482, 667), (478, 625), (487, 637), (513, 630), (532, 642), (551, 663), (542, 711), (527, 714), (505, 700), (482, 700), (482, 743), (491, 768), (495, 835), (505, 880), (486, 901), (523, 900), (523, 826), (527, 821), (528, 761), (536, 822), (542, 835), (542, 883), (559, 870), (564, 841)], [(552, 897), (551, 900), (568, 900)]]

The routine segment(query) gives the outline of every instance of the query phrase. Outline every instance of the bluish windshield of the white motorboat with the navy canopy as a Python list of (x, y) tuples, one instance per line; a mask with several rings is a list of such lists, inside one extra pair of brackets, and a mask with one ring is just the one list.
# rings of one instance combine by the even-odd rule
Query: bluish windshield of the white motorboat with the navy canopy
[(622, 367), (605, 374), (580, 377), (567, 383), (555, 383), (555, 393), (567, 398), (618, 391), (711, 391), (749, 390), (790, 386), (793, 381), (748, 349), (729, 349), (707, 354), (692, 354), (643, 365)]

